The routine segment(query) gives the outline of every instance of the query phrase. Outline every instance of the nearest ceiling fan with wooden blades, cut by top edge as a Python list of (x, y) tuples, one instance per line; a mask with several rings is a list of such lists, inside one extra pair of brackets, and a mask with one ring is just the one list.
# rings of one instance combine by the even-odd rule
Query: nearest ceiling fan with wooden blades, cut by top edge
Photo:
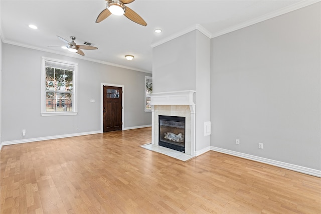
[(126, 4), (132, 3), (135, 0), (105, 0), (107, 2), (106, 4), (106, 9), (103, 10), (97, 17), (96, 23), (100, 23), (107, 17), (109, 17), (111, 14), (121, 16), (124, 15), (131, 21), (142, 25), (146, 26), (147, 23), (138, 15), (136, 14), (133, 10), (125, 6)]

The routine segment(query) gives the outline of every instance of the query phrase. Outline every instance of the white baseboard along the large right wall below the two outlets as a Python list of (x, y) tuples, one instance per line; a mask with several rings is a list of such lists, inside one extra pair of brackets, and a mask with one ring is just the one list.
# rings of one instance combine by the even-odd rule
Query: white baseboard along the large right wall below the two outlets
[(258, 157), (258, 156), (245, 154), (245, 153), (241, 153), (241, 152), (237, 152), (237, 151), (232, 151), (232, 150), (228, 150), (228, 149), (222, 149), (222, 148), (218, 148), (218, 147), (214, 147), (214, 146), (211, 146), (211, 150), (212, 151), (217, 151), (217, 152), (220, 152), (220, 153), (224, 153), (224, 154), (233, 155), (233, 156), (236, 156), (236, 157), (241, 157), (241, 158), (245, 158), (245, 159), (249, 159), (249, 160), (254, 160), (254, 161), (257, 161), (257, 162), (261, 162), (261, 163), (266, 163), (266, 164), (277, 166), (277, 167), (280, 167), (280, 168), (289, 169), (289, 170), (292, 170), (292, 171), (301, 172), (301, 173), (304, 173), (304, 174), (313, 175), (313, 176), (316, 176), (316, 177), (321, 177), (321, 170), (311, 169), (311, 168), (307, 168), (307, 167), (304, 167), (304, 166), (298, 166), (298, 165), (294, 165), (294, 164), (291, 164), (291, 163), (285, 163), (285, 162), (281, 162), (281, 161), (277, 161), (277, 160), (271, 160), (271, 159), (267, 159), (267, 158), (264, 158), (264, 157)]

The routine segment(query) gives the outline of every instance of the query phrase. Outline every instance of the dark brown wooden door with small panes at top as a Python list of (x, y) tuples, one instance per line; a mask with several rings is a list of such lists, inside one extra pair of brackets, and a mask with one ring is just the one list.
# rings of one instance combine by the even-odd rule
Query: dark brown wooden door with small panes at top
[(122, 88), (104, 86), (104, 132), (121, 130)]

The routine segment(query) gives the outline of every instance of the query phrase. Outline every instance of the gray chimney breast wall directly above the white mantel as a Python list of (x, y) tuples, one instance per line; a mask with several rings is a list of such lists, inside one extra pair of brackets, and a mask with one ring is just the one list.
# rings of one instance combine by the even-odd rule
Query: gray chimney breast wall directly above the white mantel
[(152, 49), (152, 92), (196, 90), (196, 31)]

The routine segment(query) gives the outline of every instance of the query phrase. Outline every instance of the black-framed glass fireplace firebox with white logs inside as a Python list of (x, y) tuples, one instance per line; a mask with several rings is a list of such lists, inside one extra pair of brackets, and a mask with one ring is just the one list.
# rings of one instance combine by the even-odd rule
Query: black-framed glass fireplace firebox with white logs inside
[(158, 145), (185, 153), (185, 117), (158, 115)]

